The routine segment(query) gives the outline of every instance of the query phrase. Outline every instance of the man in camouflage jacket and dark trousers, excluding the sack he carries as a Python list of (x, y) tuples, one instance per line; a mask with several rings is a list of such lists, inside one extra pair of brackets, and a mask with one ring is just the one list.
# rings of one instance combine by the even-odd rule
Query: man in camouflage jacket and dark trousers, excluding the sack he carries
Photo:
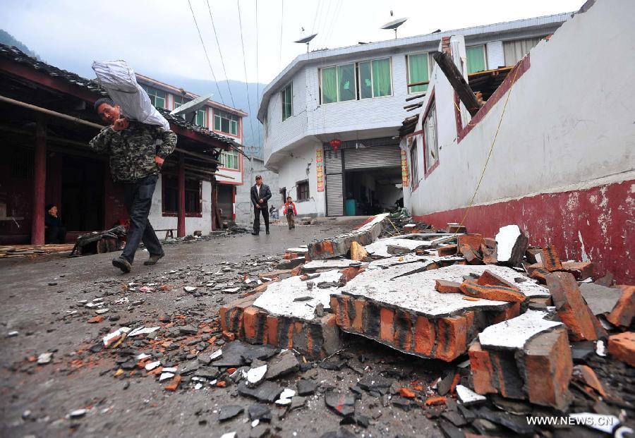
[(102, 129), (89, 145), (95, 152), (110, 155), (112, 178), (123, 183), (124, 204), (130, 215), (126, 247), (112, 264), (123, 272), (130, 272), (142, 241), (150, 253), (144, 264), (155, 264), (164, 256), (161, 242), (147, 216), (161, 166), (176, 148), (176, 134), (161, 126), (121, 118), (119, 105), (111, 99), (97, 100), (95, 110), (111, 126)]

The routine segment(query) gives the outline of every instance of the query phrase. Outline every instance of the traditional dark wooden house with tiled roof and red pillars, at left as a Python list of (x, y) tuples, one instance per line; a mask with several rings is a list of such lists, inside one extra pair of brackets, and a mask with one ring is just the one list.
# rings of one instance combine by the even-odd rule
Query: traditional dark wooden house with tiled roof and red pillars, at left
[[(92, 80), (0, 44), (0, 243), (44, 243), (49, 203), (58, 205), (69, 242), (127, 220), (108, 157), (87, 147), (102, 127), (93, 104), (106, 96)], [(178, 236), (207, 233), (222, 223), (216, 180), (222, 153), (240, 155), (240, 145), (159, 111), (179, 140), (164, 164), (150, 221), (157, 229), (176, 229)], [(170, 217), (173, 222), (164, 220)]]

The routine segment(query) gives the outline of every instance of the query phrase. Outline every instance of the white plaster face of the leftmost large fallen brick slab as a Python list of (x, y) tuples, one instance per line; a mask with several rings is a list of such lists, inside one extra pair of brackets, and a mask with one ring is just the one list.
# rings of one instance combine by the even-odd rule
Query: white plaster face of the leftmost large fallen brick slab
[[(341, 273), (337, 270), (322, 272), (320, 276), (310, 280), (315, 286), (309, 290), (307, 281), (302, 281), (300, 276), (292, 276), (271, 284), (253, 305), (270, 315), (310, 321), (315, 318), (315, 306), (318, 304), (324, 305), (325, 310), (330, 308), (330, 295), (337, 290), (335, 287), (320, 288), (320, 283), (337, 283), (340, 277)], [(306, 297), (310, 298), (296, 301), (297, 298)]]

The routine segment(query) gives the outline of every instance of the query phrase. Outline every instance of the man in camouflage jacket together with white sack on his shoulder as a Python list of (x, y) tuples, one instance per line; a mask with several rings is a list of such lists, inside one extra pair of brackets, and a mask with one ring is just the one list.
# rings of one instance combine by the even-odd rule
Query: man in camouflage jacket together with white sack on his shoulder
[[(110, 126), (102, 129), (89, 145), (96, 152), (109, 154), (112, 178), (123, 183), (130, 227), (126, 246), (112, 264), (122, 272), (130, 272), (142, 241), (150, 253), (144, 264), (155, 264), (164, 257), (161, 242), (147, 217), (161, 166), (176, 149), (176, 134), (152, 107), (133, 71), (125, 63), (123, 68), (122, 63), (93, 63), (97, 78), (113, 99), (95, 102), (95, 111)], [(114, 68), (109, 64), (114, 64)]]

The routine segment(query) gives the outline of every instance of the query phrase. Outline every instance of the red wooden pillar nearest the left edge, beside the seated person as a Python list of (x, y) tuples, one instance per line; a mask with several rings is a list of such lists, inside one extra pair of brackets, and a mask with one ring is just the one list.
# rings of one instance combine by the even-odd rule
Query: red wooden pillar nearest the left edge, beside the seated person
[(31, 245), (44, 245), (44, 207), (47, 193), (47, 121), (37, 118), (33, 158), (33, 214)]

